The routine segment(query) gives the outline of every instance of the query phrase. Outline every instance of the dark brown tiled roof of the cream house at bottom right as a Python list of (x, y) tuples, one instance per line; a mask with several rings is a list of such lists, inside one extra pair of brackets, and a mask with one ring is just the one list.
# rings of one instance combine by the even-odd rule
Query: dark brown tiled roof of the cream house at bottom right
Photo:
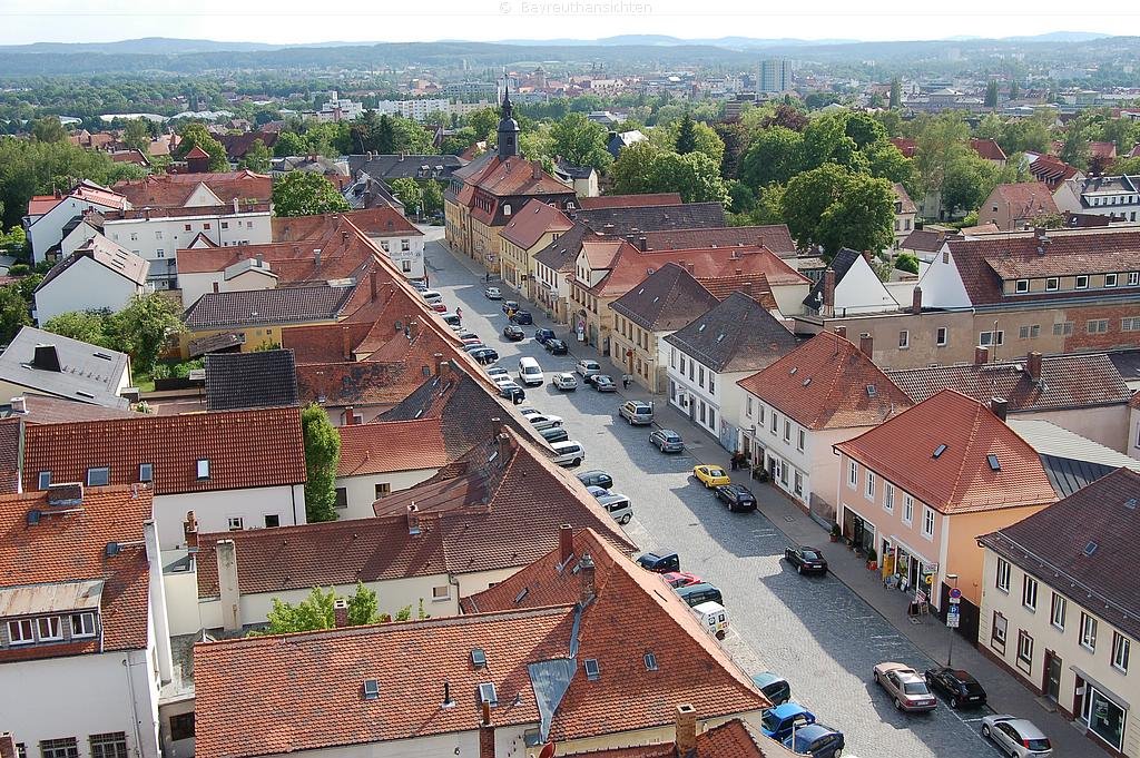
[(1140, 474), (1118, 468), (978, 541), (1140, 638)]

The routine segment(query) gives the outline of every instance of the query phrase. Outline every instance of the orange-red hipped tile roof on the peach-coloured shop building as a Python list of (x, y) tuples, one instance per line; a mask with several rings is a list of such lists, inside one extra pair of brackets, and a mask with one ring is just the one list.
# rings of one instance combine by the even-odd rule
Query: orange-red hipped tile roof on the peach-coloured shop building
[(836, 448), (942, 513), (1057, 499), (1037, 453), (990, 408), (954, 390)]

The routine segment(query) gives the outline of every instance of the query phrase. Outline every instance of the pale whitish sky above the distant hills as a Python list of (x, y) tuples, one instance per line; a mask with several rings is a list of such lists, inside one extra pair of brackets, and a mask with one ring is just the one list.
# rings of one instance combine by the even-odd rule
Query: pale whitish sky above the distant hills
[[(930, 40), (1045, 32), (1140, 35), (1140, 5), (1072, 0), (0, 0), (0, 44), (142, 36), (269, 43), (497, 41), (614, 34), (684, 39)], [(767, 8), (772, 6), (773, 8)], [(1023, 11), (1024, 9), (1024, 11)]]

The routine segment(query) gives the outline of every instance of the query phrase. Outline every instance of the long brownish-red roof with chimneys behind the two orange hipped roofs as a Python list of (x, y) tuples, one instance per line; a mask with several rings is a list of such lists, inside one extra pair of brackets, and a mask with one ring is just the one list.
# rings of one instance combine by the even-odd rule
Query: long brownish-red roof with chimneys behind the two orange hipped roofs
[(1108, 356), (1048, 356), (1041, 359), (1041, 376), (1033, 378), (1027, 361), (933, 366), (888, 370), (914, 402), (942, 390), (958, 390), (979, 402), (1001, 398), (1010, 413), (1041, 413), (1125, 405), (1131, 391)]

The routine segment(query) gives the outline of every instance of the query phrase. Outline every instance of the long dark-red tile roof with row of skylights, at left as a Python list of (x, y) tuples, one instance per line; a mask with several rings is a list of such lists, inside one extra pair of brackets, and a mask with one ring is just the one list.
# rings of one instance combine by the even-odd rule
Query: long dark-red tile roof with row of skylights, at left
[[(197, 460), (210, 478), (197, 479)], [(299, 408), (140, 416), (65, 424), (31, 424), (25, 432), (24, 489), (39, 472), (51, 481), (87, 480), (108, 466), (112, 484), (139, 481), (139, 465), (154, 466), (157, 495), (301, 484), (306, 481)]]

